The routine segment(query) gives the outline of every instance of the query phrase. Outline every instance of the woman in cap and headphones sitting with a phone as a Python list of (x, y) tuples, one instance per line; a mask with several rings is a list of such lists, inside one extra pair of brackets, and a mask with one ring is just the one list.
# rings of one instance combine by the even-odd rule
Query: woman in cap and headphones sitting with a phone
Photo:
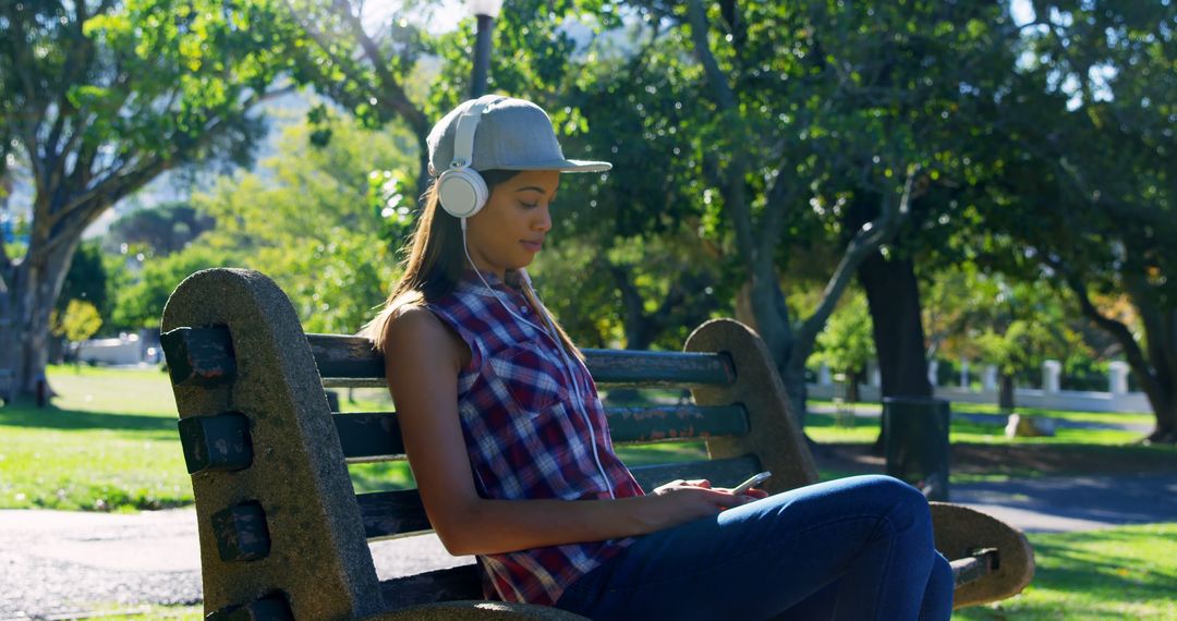
[(860, 476), (765, 498), (707, 481), (645, 494), (613, 453), (580, 354), (525, 267), (564, 158), (517, 99), (467, 101), (428, 136), (434, 183), (366, 330), (430, 521), (487, 596), (590, 617), (946, 619), (952, 574), (924, 498)]

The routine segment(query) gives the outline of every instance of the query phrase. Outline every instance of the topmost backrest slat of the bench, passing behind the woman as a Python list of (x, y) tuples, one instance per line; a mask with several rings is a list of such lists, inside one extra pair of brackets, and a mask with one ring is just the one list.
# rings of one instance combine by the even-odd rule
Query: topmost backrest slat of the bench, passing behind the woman
[[(361, 336), (307, 334), (322, 385), (328, 388), (384, 387), (384, 360)], [(723, 354), (584, 349), (588, 372), (607, 386), (724, 386), (736, 381)]]

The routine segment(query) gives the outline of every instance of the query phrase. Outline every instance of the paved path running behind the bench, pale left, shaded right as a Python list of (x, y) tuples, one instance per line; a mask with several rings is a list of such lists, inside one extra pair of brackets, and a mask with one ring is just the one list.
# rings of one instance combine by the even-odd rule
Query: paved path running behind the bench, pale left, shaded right
[[(1026, 532), (1177, 522), (1177, 475), (1042, 478), (970, 483), (953, 502)], [(137, 515), (0, 510), (0, 620), (68, 619), (107, 607), (200, 601), (195, 512)], [(434, 536), (372, 546), (381, 579), (472, 562)]]

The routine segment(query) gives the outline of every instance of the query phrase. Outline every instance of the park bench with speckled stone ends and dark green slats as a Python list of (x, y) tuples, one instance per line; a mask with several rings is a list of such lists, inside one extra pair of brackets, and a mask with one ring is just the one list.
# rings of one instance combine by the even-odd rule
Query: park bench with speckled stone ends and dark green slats
[[(265, 275), (208, 269), (164, 312), (162, 346), (197, 502), (205, 610), (212, 619), (580, 619), (481, 601), (477, 566), (380, 581), (368, 542), (430, 532), (415, 490), (355, 494), (348, 463), (404, 459), (394, 413), (333, 413), (325, 387), (384, 387), (358, 336), (304, 334)], [(393, 343), (393, 347), (395, 345)], [(698, 441), (710, 460), (633, 468), (643, 487), (678, 478), (731, 486), (770, 469), (769, 492), (817, 481), (763, 342), (709, 321), (681, 353), (585, 350), (603, 387), (685, 387), (693, 403), (607, 407), (617, 443)], [(1030, 581), (1025, 537), (965, 507), (932, 505), (957, 606)]]

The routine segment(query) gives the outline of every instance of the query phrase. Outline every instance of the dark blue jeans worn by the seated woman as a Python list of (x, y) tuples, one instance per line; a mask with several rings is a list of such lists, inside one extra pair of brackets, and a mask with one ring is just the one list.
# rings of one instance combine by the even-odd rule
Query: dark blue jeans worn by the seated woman
[(639, 537), (556, 603), (591, 619), (940, 620), (952, 569), (889, 476), (777, 494)]

